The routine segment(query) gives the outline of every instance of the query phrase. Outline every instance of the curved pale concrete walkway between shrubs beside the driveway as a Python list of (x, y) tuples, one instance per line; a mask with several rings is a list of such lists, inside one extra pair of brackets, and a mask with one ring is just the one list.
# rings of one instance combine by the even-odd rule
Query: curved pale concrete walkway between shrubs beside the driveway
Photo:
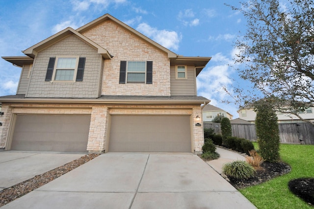
[(220, 175), (222, 173), (222, 167), (224, 164), (238, 160), (245, 161), (245, 157), (243, 155), (240, 155), (233, 151), (217, 147), (216, 152), (220, 154), (220, 158), (209, 161), (207, 162), (207, 164), (209, 164), (209, 166), (212, 167)]

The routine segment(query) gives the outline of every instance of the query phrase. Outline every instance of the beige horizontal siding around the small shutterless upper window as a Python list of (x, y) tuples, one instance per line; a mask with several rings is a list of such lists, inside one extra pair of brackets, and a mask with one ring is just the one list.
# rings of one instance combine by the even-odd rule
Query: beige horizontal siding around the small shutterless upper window
[(176, 66), (170, 67), (170, 90), (172, 96), (196, 95), (196, 75), (193, 66), (187, 66), (187, 79), (176, 79)]

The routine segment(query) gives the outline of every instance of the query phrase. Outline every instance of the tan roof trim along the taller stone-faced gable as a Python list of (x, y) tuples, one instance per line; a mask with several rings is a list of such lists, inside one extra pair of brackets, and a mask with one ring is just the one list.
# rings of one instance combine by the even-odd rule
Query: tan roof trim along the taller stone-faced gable
[(130, 32), (134, 33), (135, 35), (137, 35), (138, 37), (144, 39), (146, 42), (150, 43), (151, 45), (159, 48), (160, 50), (166, 52), (168, 54), (168, 58), (176, 58), (178, 55), (172, 51), (170, 51), (169, 49), (161, 46), (160, 44), (156, 43), (155, 41), (153, 41), (152, 39), (146, 37), (145, 35), (143, 35), (142, 33), (138, 32), (137, 30), (131, 28), (129, 25), (127, 25), (126, 23), (123, 23), (121, 21), (119, 21), (118, 19), (114, 18), (113, 16), (109, 15), (109, 14), (105, 14), (103, 15), (102, 17), (99, 17), (97, 18), (96, 20), (90, 22), (90, 23), (87, 23), (81, 27), (79, 27), (77, 29), (77, 31), (79, 33), (83, 33), (93, 27), (95, 27), (96, 25), (106, 21), (106, 20), (111, 20), (113, 21), (114, 23), (117, 23), (119, 24), (120, 26), (122, 26), (123, 28), (129, 30)]

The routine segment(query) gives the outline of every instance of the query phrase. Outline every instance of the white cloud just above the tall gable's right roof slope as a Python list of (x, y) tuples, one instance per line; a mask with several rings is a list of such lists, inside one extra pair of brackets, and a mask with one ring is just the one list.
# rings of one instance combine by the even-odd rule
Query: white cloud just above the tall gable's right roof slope
[(181, 36), (175, 31), (158, 30), (155, 27), (151, 27), (147, 23), (141, 23), (137, 26), (136, 30), (148, 36), (156, 41), (158, 44), (169, 48), (178, 50)]

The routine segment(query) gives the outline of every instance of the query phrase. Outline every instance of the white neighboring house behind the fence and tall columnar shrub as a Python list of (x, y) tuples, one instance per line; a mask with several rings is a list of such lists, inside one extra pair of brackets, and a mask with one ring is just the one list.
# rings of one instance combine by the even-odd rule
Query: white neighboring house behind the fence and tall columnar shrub
[[(253, 108), (245, 107), (237, 111), (239, 114), (239, 118), (243, 120), (250, 121), (250, 123), (255, 123), (256, 112), (254, 112)], [(297, 116), (292, 114), (283, 114), (280, 112), (276, 112), (278, 117), (278, 123), (298, 123), (303, 122)], [(308, 108), (304, 112), (299, 113), (300, 116), (304, 119), (309, 119), (314, 121), (314, 110), (313, 108)]]

